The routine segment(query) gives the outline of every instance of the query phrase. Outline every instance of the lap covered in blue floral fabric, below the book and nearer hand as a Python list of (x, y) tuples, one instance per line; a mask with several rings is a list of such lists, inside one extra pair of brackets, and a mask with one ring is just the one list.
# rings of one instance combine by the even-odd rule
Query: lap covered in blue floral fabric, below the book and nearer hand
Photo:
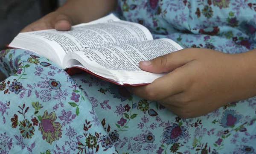
[[(256, 98), (194, 119), (20, 49), (1, 52), (2, 153), (253, 152)], [(256, 149), (255, 149), (256, 150)], [(24, 151), (24, 152), (23, 152)]]

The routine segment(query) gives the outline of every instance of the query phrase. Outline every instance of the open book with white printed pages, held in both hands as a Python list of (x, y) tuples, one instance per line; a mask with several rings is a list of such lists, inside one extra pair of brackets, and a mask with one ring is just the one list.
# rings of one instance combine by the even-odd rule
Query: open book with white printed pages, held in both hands
[(79, 68), (116, 84), (148, 84), (164, 74), (145, 72), (139, 62), (182, 49), (174, 41), (153, 40), (143, 25), (108, 15), (90, 23), (20, 33), (9, 47), (43, 55), (63, 69)]

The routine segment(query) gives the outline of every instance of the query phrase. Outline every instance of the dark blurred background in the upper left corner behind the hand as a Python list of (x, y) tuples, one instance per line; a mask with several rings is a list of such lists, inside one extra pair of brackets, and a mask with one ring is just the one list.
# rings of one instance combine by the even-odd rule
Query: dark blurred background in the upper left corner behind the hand
[(54, 11), (65, 0), (0, 0), (0, 50), (29, 23)]

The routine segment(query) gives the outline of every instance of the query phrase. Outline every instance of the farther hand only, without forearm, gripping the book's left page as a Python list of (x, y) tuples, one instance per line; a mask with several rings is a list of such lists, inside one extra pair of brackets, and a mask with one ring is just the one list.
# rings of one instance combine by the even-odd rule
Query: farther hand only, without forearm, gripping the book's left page
[(44, 29), (56, 29), (60, 31), (70, 30), (72, 20), (67, 15), (59, 12), (52, 12), (34, 23), (26, 26), (21, 32), (31, 32)]

